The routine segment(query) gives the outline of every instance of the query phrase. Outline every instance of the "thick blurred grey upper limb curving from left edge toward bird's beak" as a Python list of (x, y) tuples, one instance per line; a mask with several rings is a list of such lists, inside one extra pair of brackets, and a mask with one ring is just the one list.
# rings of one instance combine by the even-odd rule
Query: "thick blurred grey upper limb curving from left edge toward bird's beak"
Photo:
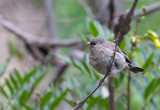
[(56, 46), (75, 46), (75, 45), (83, 45), (81, 40), (54, 40), (54, 39), (46, 39), (44, 37), (32, 35), (27, 32), (23, 32), (21, 29), (17, 28), (15, 25), (10, 23), (7, 20), (4, 20), (2, 17), (0, 18), (0, 24), (5, 27), (7, 30), (11, 31), (17, 37), (22, 39), (28, 44), (35, 46), (43, 46), (43, 47), (56, 47)]

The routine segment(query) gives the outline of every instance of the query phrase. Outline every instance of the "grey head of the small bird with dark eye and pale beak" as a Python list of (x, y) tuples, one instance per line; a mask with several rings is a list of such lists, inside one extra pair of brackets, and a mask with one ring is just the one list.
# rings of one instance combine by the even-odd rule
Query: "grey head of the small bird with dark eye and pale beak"
[(97, 45), (100, 45), (100, 44), (103, 44), (105, 42), (104, 39), (102, 38), (92, 38), (88, 43), (87, 43), (87, 46), (89, 48), (93, 48)]

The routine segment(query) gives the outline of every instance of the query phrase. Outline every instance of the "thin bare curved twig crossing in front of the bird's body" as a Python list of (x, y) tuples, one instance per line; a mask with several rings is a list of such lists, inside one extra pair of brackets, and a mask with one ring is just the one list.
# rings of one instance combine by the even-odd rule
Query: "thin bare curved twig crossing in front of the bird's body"
[[(117, 37), (117, 38), (119, 38), (119, 37)], [(115, 58), (115, 55), (116, 55), (117, 42), (118, 42), (118, 40), (115, 41), (114, 53), (113, 53), (113, 56), (112, 56), (112, 59), (111, 59), (111, 63), (107, 68), (107, 72), (106, 72), (105, 76), (100, 80), (98, 86), (83, 101), (80, 101), (72, 110), (78, 110), (79, 108), (81, 108), (83, 106), (83, 104), (85, 103), (85, 101), (88, 100), (88, 98), (91, 97), (99, 89), (99, 87), (103, 84), (106, 77), (110, 74), (110, 72), (112, 70), (112, 65), (114, 63), (114, 58)]]

